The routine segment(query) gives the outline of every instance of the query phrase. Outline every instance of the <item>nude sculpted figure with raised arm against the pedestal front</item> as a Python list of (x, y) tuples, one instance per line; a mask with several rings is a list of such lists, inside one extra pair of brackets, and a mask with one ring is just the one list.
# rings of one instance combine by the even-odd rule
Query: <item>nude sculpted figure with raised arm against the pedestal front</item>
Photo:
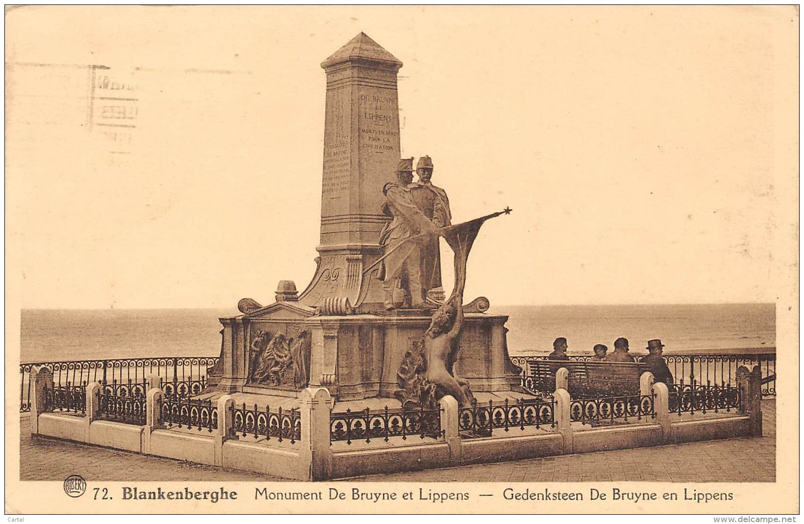
[[(456, 305), (457, 302), (457, 305)], [(457, 353), (457, 335), (461, 332), (463, 308), (460, 297), (451, 298), (433, 314), (433, 321), (425, 331), (426, 379), (434, 383), (446, 395), (453, 395), (461, 407), (469, 406), (474, 399), (469, 382), (452, 375)]]

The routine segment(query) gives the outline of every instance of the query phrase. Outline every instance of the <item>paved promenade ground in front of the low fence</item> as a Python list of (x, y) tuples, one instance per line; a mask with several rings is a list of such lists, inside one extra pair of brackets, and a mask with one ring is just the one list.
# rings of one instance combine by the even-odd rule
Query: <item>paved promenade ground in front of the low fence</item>
[[(698, 481), (773, 482), (776, 479), (776, 402), (762, 403), (760, 438), (712, 440), (527, 461), (468, 465), (409, 473), (355, 477), (349, 481)], [(92, 481), (285, 481), (235, 469), (221, 469), (156, 456), (96, 448), (61, 440), (31, 438), (21, 417), (20, 477), (54, 480), (77, 473)]]

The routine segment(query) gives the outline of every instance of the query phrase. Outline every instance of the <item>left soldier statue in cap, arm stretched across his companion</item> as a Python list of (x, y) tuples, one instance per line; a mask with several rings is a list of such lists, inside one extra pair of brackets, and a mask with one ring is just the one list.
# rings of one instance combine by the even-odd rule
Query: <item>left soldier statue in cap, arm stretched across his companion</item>
[(392, 219), (379, 233), (379, 244), (385, 254), (385, 271), (384, 274), (380, 271), (380, 276), (383, 276), (384, 307), (387, 311), (396, 307), (393, 293), (398, 280), (403, 283), (412, 307), (423, 305), (419, 244), (407, 239), (421, 233), (437, 235), (433, 224), (413, 202), (408, 187), (412, 179), (413, 158), (403, 158), (396, 170), (396, 182), (388, 182), (383, 187), (386, 200), (382, 211)]

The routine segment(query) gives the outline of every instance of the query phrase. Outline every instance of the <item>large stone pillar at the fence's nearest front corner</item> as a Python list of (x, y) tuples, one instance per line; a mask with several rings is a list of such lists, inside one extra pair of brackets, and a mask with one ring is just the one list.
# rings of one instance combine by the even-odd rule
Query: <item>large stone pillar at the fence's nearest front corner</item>
[(301, 442), (299, 454), (310, 466), (311, 481), (332, 477), (330, 448), (330, 407), (332, 397), (326, 387), (301, 390)]

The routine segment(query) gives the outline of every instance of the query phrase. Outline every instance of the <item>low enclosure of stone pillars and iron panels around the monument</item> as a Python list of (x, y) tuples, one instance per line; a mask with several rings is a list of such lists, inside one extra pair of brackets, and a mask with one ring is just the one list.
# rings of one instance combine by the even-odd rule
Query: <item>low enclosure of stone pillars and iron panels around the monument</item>
[(640, 375), (635, 394), (572, 397), (564, 367), (559, 387), (540, 398), (460, 406), (446, 395), (433, 407), (335, 411), (320, 387), (301, 390), (297, 407), (285, 410), (233, 395), (170, 399), (155, 374), (143, 383), (57, 386), (38, 367), (27, 418), (32, 435), (302, 481), (376, 473), (378, 456), (386, 461), (379, 467), (404, 470), (761, 436), (759, 366), (740, 366), (733, 386), (651, 375)]

